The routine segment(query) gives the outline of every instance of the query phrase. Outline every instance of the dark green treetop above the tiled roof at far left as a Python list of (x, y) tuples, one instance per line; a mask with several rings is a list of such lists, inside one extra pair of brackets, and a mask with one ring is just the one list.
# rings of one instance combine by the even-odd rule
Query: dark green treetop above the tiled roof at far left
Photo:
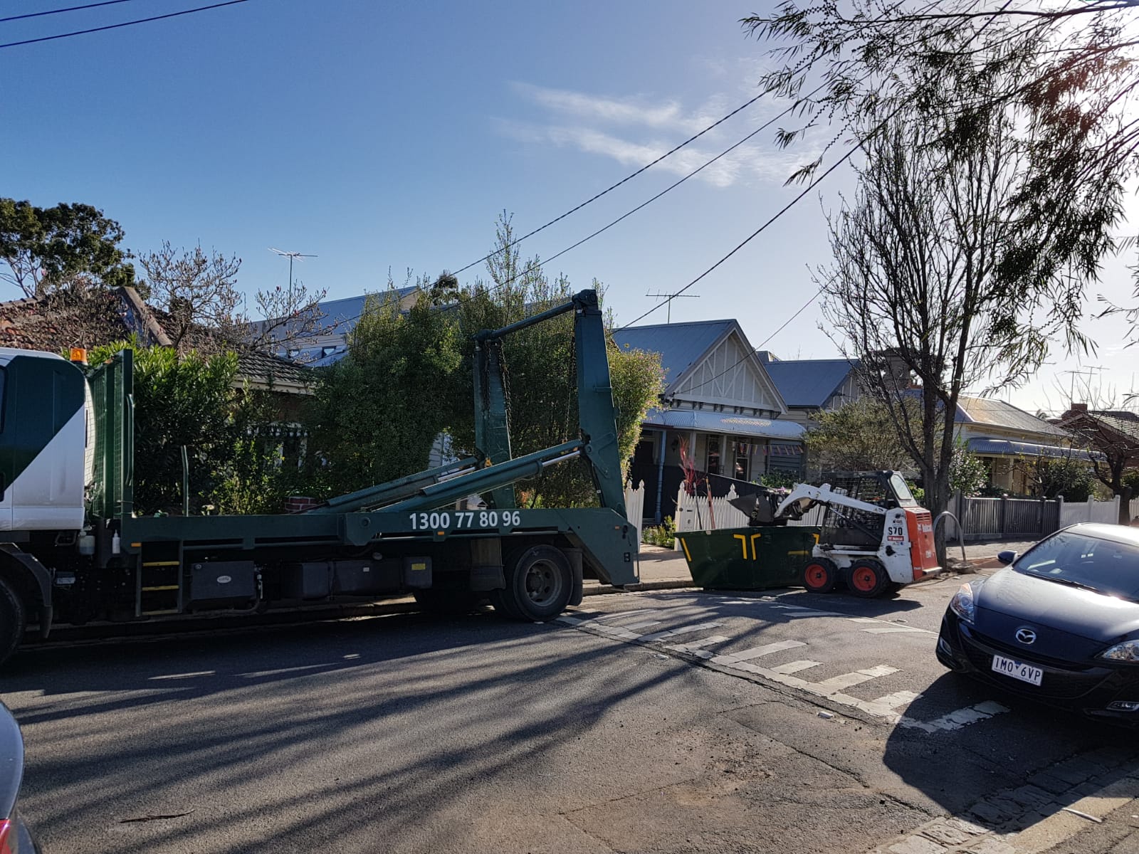
[(90, 205), (36, 207), (0, 198), (0, 281), (24, 296), (42, 296), (85, 279), (106, 287), (131, 285), (134, 269), (118, 248), (123, 230)]

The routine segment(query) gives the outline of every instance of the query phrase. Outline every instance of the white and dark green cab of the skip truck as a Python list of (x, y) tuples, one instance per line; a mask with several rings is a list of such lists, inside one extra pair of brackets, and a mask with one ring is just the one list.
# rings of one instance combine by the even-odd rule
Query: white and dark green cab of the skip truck
[(83, 526), (85, 387), (62, 356), (0, 347), (0, 531)]

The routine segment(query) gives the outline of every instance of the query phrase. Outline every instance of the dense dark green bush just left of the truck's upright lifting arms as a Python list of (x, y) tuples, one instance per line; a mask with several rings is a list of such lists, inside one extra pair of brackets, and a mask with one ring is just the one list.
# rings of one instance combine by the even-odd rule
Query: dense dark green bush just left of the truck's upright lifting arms
[(369, 296), (347, 355), (321, 369), (308, 407), (308, 494), (352, 492), (427, 468), (460, 386), (470, 408), (460, 366), (454, 317), (426, 293), (405, 314), (394, 289)]

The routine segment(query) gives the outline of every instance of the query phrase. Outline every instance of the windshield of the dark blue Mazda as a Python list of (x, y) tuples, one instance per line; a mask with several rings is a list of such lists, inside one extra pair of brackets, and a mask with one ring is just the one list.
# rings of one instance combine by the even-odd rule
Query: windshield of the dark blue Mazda
[(1139, 548), (1066, 531), (1041, 542), (1013, 568), (1024, 575), (1139, 601)]

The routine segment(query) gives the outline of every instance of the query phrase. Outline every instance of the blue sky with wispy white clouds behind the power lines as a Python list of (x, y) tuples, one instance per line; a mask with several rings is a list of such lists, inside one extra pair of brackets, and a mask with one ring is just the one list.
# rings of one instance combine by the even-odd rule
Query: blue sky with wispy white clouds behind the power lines
[[(79, 0), (77, 0), (79, 1)], [(0, 24), (0, 42), (206, 5), (132, 0)], [(74, 5), (8, 0), (3, 15)], [(0, 50), (0, 194), (84, 202), (136, 252), (200, 243), (244, 261), (239, 286), (284, 285), (268, 247), (318, 255), (295, 268), (330, 298), (384, 287), (388, 270), (434, 274), (486, 254), (507, 211), (528, 231), (744, 104), (767, 61), (730, 1), (404, 2), (248, 0), (237, 6)], [(753, 131), (784, 105), (760, 101), (679, 155), (522, 245), (549, 257)], [(772, 129), (773, 130), (773, 129)], [(772, 131), (547, 270), (597, 278), (620, 322), (687, 285), (801, 188), (809, 157)], [(673, 320), (735, 317), (754, 345), (814, 290), (829, 258), (822, 208), (841, 174), (677, 301)], [(462, 276), (469, 280), (481, 270)], [(1122, 263), (1101, 287), (1130, 291)], [(11, 298), (16, 294), (0, 295)], [(642, 322), (664, 322), (661, 309)], [(768, 344), (828, 358), (811, 306)], [(1118, 325), (1089, 330), (1115, 342)], [(1107, 350), (1111, 348), (1111, 352)], [(1093, 364), (1121, 391), (1131, 352)], [(1013, 392), (1062, 407), (1070, 362)]]

